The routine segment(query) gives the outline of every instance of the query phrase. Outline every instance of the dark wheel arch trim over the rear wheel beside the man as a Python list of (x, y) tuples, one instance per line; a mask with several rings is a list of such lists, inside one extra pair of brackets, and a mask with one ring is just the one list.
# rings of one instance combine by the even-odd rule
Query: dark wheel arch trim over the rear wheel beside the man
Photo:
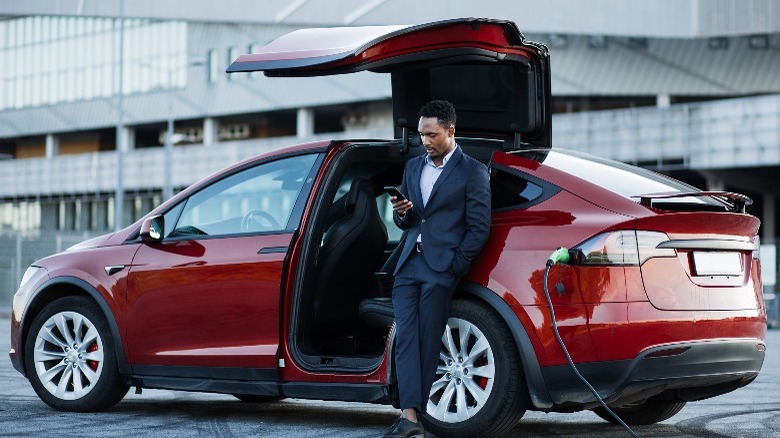
[(454, 299), (471, 298), (478, 299), (490, 306), (506, 323), (518, 348), (523, 374), (528, 386), (528, 395), (531, 403), (537, 408), (551, 408), (552, 397), (547, 389), (547, 383), (542, 375), (542, 369), (534, 353), (531, 339), (509, 305), (492, 290), (474, 283), (461, 283), (455, 292)]

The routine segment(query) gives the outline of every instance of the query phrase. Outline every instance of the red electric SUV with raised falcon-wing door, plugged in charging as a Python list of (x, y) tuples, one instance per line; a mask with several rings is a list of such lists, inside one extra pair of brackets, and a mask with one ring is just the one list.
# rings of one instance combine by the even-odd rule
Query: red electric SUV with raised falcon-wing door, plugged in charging
[[(11, 360), (58, 410), (130, 386), (396, 403), (390, 294), (399, 230), (387, 185), (424, 152), (418, 110), (446, 99), (490, 168), (490, 239), (442, 335), (426, 429), (506, 433), (526, 410), (605, 413), (556, 343), (629, 424), (747, 385), (764, 360), (759, 221), (750, 199), (551, 148), (547, 48), (512, 22), (308, 29), (228, 72), (389, 73), (395, 138), (265, 153), (124, 230), (36, 262), (13, 301)], [(290, 86), (295, 86), (295, 79)]]

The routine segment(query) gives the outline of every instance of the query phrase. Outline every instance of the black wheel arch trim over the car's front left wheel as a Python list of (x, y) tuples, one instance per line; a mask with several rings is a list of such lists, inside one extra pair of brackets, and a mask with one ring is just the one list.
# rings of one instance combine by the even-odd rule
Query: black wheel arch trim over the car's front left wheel
[(108, 307), (108, 303), (103, 298), (103, 296), (100, 294), (100, 292), (95, 289), (94, 286), (87, 283), (86, 281), (76, 278), (76, 277), (55, 277), (44, 284), (42, 284), (38, 290), (33, 295), (33, 298), (30, 300), (30, 304), (27, 307), (27, 310), (24, 312), (24, 316), (22, 317), (21, 326), (20, 326), (20, 336), (19, 336), (19, 360), (21, 361), (21, 372), (24, 374), (25, 377), (27, 377), (26, 367), (24, 363), (25, 358), (25, 345), (26, 345), (26, 339), (30, 331), (30, 326), (32, 326), (33, 321), (35, 320), (35, 317), (38, 316), (38, 314), (50, 303), (53, 301), (64, 298), (64, 297), (70, 297), (70, 296), (85, 296), (90, 297), (95, 304), (98, 305), (101, 312), (103, 313), (103, 317), (106, 318), (106, 321), (108, 322), (108, 326), (111, 330), (111, 337), (114, 339), (114, 353), (117, 357), (117, 365), (119, 367), (119, 372), (121, 374), (127, 375), (130, 374), (130, 366), (125, 361), (125, 351), (124, 346), (122, 344), (122, 337), (119, 333), (119, 326), (116, 323), (116, 319), (114, 318), (114, 314), (111, 312), (111, 309)]

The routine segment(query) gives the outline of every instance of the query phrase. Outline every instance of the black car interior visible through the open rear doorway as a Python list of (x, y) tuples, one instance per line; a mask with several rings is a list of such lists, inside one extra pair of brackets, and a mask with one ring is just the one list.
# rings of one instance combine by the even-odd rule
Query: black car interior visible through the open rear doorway
[[(417, 137), (417, 136), (412, 136)], [(458, 139), (488, 163), (501, 142)], [(401, 142), (354, 143), (340, 154), (315, 199), (304, 235), (290, 344), (316, 369), (361, 371), (382, 359), (393, 323), (393, 270), (403, 239), (384, 186), (400, 186), (404, 164), (424, 152), (419, 138), (407, 153)]]

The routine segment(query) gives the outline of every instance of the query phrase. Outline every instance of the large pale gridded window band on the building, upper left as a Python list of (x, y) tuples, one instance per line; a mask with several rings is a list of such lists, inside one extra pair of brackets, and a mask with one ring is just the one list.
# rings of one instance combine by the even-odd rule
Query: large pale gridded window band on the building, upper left
[[(124, 23), (123, 93), (185, 86), (187, 23)], [(0, 20), (0, 111), (113, 96), (118, 90), (119, 31), (119, 20), (113, 18)], [(166, 71), (182, 74), (169, 81)]]

